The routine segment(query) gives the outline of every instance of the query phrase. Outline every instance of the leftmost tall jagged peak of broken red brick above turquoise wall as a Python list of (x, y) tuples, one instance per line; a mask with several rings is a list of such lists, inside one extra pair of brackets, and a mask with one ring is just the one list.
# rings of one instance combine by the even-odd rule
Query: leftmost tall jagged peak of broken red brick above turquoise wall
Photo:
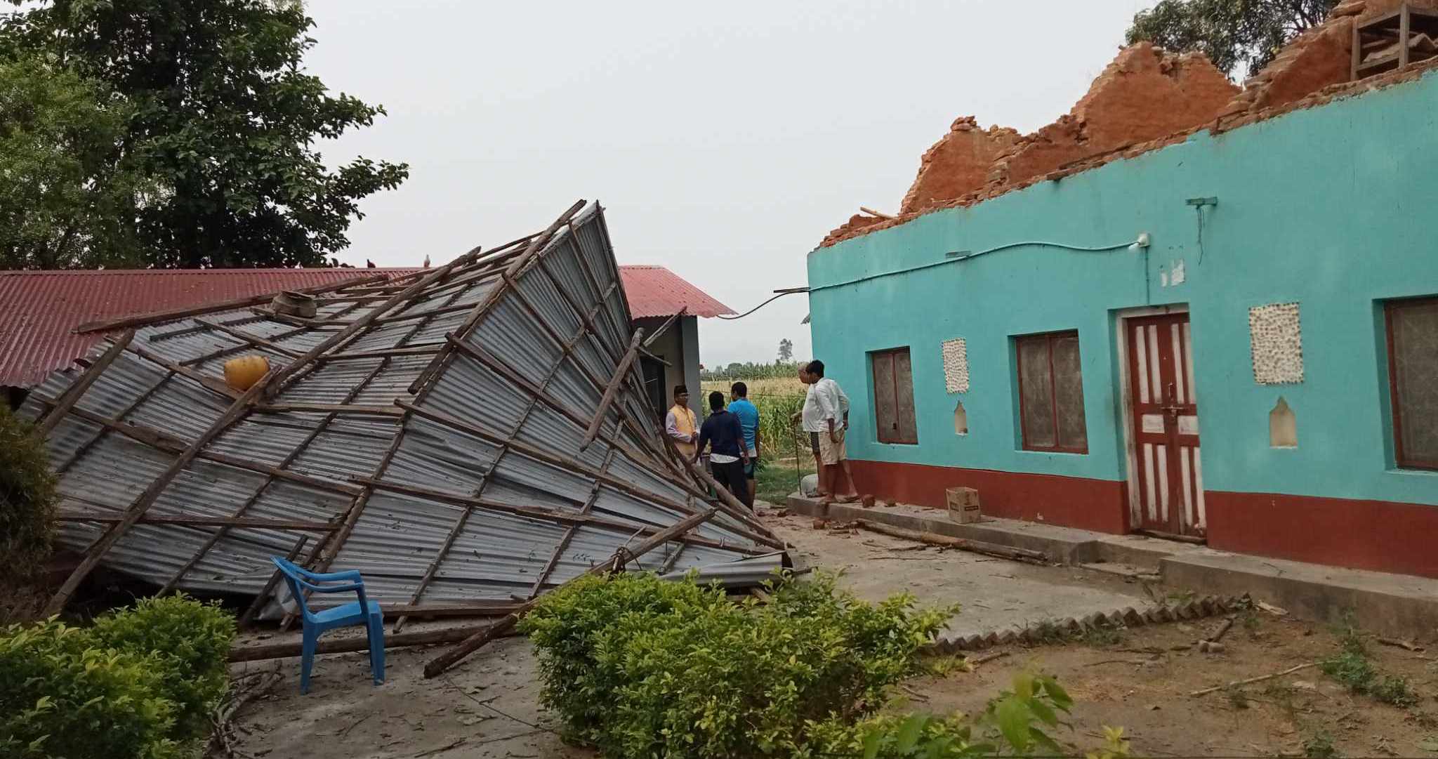
[(919, 175), (905, 194), (899, 213), (920, 211), (984, 187), (994, 161), (1017, 141), (1014, 129), (981, 129), (974, 116), (959, 116), (949, 126), (949, 134), (919, 160)]

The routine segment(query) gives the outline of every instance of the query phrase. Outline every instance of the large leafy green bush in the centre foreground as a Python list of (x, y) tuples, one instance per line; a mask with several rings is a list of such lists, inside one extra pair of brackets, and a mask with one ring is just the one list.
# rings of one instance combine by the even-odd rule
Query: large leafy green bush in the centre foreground
[(546, 595), (522, 630), (571, 737), (607, 756), (762, 756), (881, 707), (953, 611), (866, 604), (823, 575), (779, 582), (766, 605), (624, 575)]

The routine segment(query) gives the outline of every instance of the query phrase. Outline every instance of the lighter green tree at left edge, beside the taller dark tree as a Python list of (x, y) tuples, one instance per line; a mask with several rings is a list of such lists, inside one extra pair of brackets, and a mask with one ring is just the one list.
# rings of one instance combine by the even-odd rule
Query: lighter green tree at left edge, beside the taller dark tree
[(138, 260), (157, 188), (121, 155), (129, 105), (40, 58), (0, 60), (0, 269)]

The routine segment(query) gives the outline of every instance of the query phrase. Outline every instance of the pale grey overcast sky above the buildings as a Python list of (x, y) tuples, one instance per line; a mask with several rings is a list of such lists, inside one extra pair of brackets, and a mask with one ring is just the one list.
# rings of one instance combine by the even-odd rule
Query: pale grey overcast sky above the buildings
[[(444, 263), (605, 207), (620, 263), (735, 310), (805, 285), (858, 206), (894, 211), (955, 116), (1030, 132), (1083, 95), (1143, 0), (309, 0), (309, 68), (388, 116), (325, 147), (407, 161), (342, 260)], [(700, 359), (810, 356), (804, 296), (700, 319)]]

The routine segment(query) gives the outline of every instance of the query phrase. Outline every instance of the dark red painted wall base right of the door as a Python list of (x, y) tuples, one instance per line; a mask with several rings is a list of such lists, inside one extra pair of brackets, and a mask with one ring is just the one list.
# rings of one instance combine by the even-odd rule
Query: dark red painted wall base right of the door
[(1438, 576), (1438, 506), (1214, 490), (1204, 499), (1212, 548)]

